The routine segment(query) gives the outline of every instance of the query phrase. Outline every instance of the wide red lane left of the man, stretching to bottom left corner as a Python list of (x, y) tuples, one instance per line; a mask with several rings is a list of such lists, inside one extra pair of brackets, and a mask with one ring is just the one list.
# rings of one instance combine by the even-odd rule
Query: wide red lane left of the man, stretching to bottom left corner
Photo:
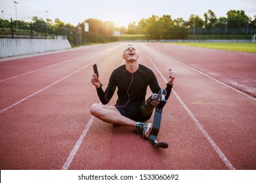
[[(112, 49), (113, 46), (106, 45), (106, 51)], [(85, 78), (85, 73), (91, 75), (91, 69), (87, 69), (89, 65), (83, 65), (84, 68), (78, 65), (80, 68), (74, 73), (0, 114), (1, 169), (62, 167), (81, 129), (91, 118), (88, 113), (91, 97), (85, 95), (90, 91), (87, 86), (91, 86)], [(52, 73), (56, 70), (51, 69)], [(66, 70), (65, 67), (62, 69)]]

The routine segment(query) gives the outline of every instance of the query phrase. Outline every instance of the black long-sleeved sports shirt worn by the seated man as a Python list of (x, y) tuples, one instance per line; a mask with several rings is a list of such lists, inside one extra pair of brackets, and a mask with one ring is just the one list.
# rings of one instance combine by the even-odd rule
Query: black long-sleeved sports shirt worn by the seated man
[[(125, 65), (121, 65), (113, 71), (106, 90), (103, 91), (102, 87), (100, 87), (97, 88), (97, 93), (101, 103), (107, 104), (117, 87), (118, 99), (116, 107), (133, 108), (141, 105), (142, 101), (145, 100), (148, 86), (150, 86), (152, 93), (158, 93), (161, 90), (156, 76), (148, 67), (139, 64), (139, 68), (135, 73), (129, 73)], [(167, 84), (165, 99), (168, 99), (171, 88), (172, 86)]]

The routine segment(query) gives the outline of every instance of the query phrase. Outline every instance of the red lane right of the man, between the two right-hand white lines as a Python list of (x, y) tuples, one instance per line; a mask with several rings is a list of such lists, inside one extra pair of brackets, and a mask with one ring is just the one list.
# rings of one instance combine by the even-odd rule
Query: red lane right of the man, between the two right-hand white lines
[[(153, 51), (151, 54), (156, 55)], [(163, 57), (165, 56), (166, 53)], [(161, 58), (158, 55), (155, 59)], [(207, 60), (207, 58), (202, 59)], [(169, 64), (177, 63), (179, 61), (169, 58)], [(167, 65), (168, 63), (162, 64)], [(207, 78), (198, 78), (190, 70), (190, 67), (183, 71), (178, 70), (179, 82), (178, 80), (176, 82), (179, 84), (179, 90), (177, 90), (179, 95), (181, 93), (182, 100), (196, 115), (203, 127), (209, 131), (210, 137), (213, 137), (224, 154), (232, 154), (228, 159), (232, 162), (237, 162), (239, 159), (239, 163), (233, 163), (234, 167), (237, 169), (253, 167), (254, 169), (256, 162), (255, 156), (253, 156), (253, 151), (256, 150), (253, 140), (255, 139), (253, 129), (256, 127), (253, 122), (255, 119), (253, 111), (256, 109), (255, 99), (230, 90), (225, 85), (216, 83), (215, 80), (203, 82)], [(176, 84), (175, 87), (177, 87)], [(190, 91), (187, 91), (187, 88), (190, 88)]]

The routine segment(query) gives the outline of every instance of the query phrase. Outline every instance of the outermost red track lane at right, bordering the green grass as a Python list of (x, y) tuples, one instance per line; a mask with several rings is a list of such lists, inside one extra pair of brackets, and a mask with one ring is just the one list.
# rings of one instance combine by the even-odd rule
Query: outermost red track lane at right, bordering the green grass
[(256, 54), (176, 44), (150, 46), (256, 99)]

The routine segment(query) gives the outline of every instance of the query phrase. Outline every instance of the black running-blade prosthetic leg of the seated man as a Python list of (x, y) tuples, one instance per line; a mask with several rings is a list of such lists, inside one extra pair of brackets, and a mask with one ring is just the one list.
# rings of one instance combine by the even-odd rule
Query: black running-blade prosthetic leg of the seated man
[(158, 98), (160, 98), (161, 101), (158, 105), (156, 105), (153, 127), (152, 127), (152, 131), (150, 132), (150, 136), (149, 136), (150, 142), (152, 142), (152, 144), (154, 144), (154, 146), (157, 146), (160, 148), (168, 148), (168, 144), (166, 142), (158, 142), (156, 140), (156, 138), (158, 136), (158, 132), (160, 130), (162, 110), (166, 103), (166, 100), (165, 100), (166, 94), (167, 94), (167, 91), (163, 90), (163, 89), (160, 90), (160, 92), (158, 93)]

